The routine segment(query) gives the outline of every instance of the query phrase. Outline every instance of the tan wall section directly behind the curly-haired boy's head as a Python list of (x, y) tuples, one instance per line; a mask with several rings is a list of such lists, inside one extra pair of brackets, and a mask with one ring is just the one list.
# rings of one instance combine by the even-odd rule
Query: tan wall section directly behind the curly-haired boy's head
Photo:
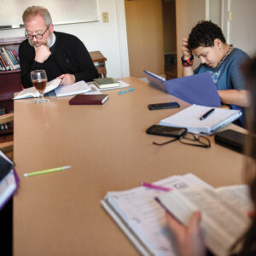
[[(177, 27), (177, 77), (182, 76), (181, 43), (188, 38), (191, 28), (199, 20), (206, 19), (206, 0), (176, 0), (176, 27)], [(200, 63), (195, 60), (194, 67)]]

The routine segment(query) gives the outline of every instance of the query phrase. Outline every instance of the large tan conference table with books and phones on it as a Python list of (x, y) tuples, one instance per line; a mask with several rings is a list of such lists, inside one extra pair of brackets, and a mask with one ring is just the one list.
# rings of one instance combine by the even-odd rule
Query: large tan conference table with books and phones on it
[[(15, 256), (138, 255), (101, 207), (107, 191), (131, 189), (142, 181), (192, 172), (215, 187), (242, 183), (244, 157), (213, 142), (196, 148), (146, 134), (189, 106), (135, 78), (123, 79), (134, 91), (108, 90), (104, 105), (70, 106), (72, 96), (44, 104), (15, 101), (16, 170)], [(149, 111), (149, 103), (180, 103), (181, 108)], [(240, 130), (236, 125), (229, 128)], [(23, 177), (58, 166), (61, 172)]]

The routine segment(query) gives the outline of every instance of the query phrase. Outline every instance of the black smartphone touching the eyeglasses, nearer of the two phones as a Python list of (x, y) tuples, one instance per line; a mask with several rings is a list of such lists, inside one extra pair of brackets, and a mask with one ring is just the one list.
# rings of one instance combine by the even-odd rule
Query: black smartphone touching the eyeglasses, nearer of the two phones
[(163, 125), (152, 125), (147, 129), (146, 132), (148, 134), (179, 138), (187, 132), (187, 129)]

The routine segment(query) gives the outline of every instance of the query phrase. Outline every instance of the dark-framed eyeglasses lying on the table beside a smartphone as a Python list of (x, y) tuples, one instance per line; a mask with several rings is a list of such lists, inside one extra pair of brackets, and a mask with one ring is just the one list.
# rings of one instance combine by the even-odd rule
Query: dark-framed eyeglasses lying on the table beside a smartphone
[(163, 146), (168, 143), (172, 143), (175, 141), (179, 141), (180, 143), (187, 144), (190, 146), (195, 146), (195, 147), (201, 147), (201, 148), (210, 148), (211, 147), (211, 142), (207, 137), (201, 136), (201, 135), (195, 135), (193, 133), (187, 132), (183, 137), (179, 138), (173, 138), (170, 141), (167, 141), (166, 143), (153, 143), (154, 145), (157, 146)]

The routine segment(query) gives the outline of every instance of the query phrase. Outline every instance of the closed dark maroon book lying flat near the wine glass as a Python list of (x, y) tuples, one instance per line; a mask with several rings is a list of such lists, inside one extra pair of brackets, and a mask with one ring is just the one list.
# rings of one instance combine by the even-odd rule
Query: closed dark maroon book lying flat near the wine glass
[(69, 105), (102, 105), (108, 100), (107, 94), (91, 94), (84, 95), (79, 94), (74, 96), (70, 101)]

